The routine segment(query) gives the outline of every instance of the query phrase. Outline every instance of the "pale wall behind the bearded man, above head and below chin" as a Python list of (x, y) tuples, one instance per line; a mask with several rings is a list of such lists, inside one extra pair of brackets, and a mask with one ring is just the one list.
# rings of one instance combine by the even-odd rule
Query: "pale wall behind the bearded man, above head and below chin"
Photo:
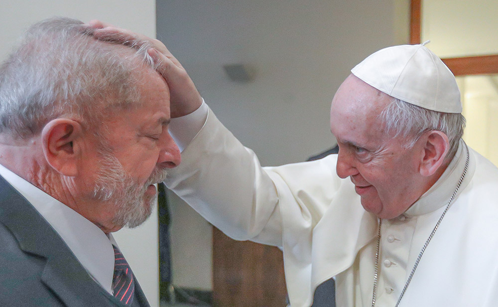
[[(101, 19), (155, 37), (155, 0), (2, 0), (0, 60), (30, 24), (52, 16)], [(159, 306), (157, 212), (134, 230), (115, 234), (152, 307)]]

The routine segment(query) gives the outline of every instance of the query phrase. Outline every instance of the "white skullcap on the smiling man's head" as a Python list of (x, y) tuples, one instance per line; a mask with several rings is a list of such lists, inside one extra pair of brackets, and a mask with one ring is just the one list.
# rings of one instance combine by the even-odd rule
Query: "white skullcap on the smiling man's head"
[(413, 105), (438, 112), (462, 112), (455, 76), (423, 44), (381, 49), (351, 72), (377, 90)]

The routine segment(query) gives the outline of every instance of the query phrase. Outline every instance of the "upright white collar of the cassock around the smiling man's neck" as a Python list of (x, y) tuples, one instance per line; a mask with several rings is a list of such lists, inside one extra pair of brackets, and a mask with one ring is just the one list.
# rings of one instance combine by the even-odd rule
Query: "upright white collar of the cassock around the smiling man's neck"
[[(427, 192), (425, 192), (420, 198), (404, 213), (405, 216), (416, 216), (423, 215), (445, 206), (448, 204), (451, 195), (455, 191), (458, 181), (462, 177), (465, 169), (465, 162), (467, 160), (467, 146), (463, 140), (460, 140), (458, 145), (457, 153), (451, 160), (450, 164), (443, 172), (441, 177), (434, 183)], [(467, 174), (462, 181), (460, 188), (458, 189), (457, 195), (465, 189), (467, 184), (469, 184), (475, 170), (475, 161), (473, 155), (470, 154), (469, 166), (467, 169)]]

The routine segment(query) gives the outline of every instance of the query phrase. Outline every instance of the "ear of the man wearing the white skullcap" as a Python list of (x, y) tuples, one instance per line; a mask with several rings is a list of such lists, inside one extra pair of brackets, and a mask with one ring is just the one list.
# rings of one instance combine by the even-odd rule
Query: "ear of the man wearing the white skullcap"
[(450, 142), (441, 131), (429, 131), (422, 136), (423, 154), (420, 160), (420, 174), (431, 176), (443, 165), (450, 150)]

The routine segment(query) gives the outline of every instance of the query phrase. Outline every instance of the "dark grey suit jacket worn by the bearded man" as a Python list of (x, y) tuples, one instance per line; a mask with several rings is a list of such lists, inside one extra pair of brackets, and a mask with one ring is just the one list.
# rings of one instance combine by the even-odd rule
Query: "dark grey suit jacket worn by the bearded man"
[[(149, 306), (136, 279), (133, 303)], [(0, 306), (124, 306), (90, 277), (50, 224), (1, 176)]]

